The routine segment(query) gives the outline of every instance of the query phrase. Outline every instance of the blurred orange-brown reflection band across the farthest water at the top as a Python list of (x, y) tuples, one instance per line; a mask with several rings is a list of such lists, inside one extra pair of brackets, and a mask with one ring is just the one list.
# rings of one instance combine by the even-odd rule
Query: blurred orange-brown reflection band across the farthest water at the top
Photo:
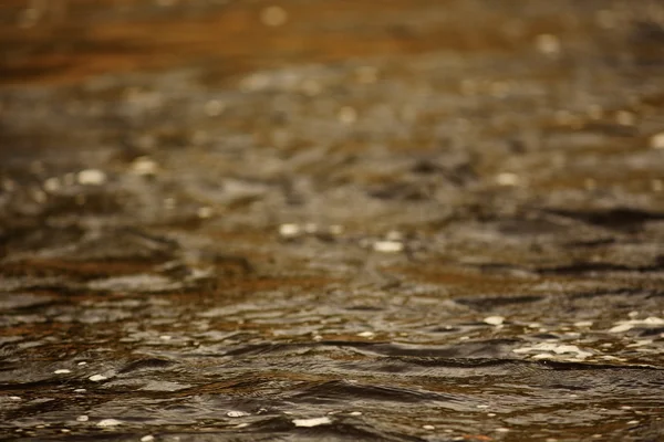
[[(225, 77), (287, 63), (429, 51), (559, 51), (564, 17), (505, 21), (466, 1), (10, 1), (0, 81), (71, 83), (206, 63)], [(375, 14), (376, 9), (381, 11)], [(427, 13), (427, 11), (430, 11)], [(471, 13), (471, 17), (469, 15)], [(422, 17), (427, 17), (422, 21)], [(376, 20), (378, 18), (378, 20)]]

